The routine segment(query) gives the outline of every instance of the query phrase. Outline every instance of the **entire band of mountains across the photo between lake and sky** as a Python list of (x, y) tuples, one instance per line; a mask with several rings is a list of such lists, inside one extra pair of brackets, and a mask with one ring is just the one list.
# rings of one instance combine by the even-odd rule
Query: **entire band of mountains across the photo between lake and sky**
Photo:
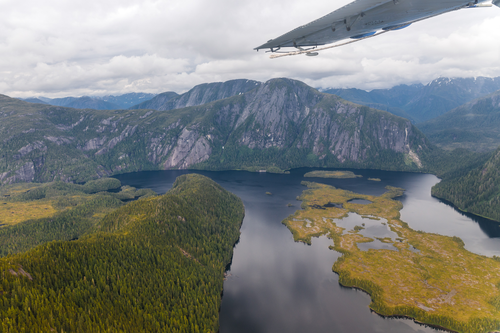
[[(180, 95), (164, 92), (128, 110), (78, 109), (0, 95), (0, 181), (80, 182), (174, 168), (428, 171), (443, 178), (433, 189), (435, 195), (464, 210), (495, 217), (500, 205), (492, 212), (485, 207), (494, 204), (496, 194), (488, 199), (493, 201), (481, 199), (475, 208), (470, 206), (475, 199), (460, 198), (472, 195), (463, 184), (472, 181), (480, 195), (494, 178), (486, 179), (482, 170), (494, 165), (494, 161), (484, 163), (500, 144), (500, 91), (485, 94), (497, 83), (498, 78), (440, 78), (426, 86), (370, 92), (337, 89), (337, 94), (351, 100), (347, 101), (332, 90), (319, 92), (288, 78), (239, 79), (200, 84)], [(477, 95), (481, 96), (473, 99)], [(79, 106), (84, 105), (81, 100), (48, 102)], [(111, 103), (112, 99), (98, 100)], [(395, 115), (411, 118), (408, 113), (416, 115), (412, 110), (418, 105), (437, 110), (433, 119), (418, 123), (423, 133), (407, 118)], [(498, 192), (493, 190), (488, 191)]]

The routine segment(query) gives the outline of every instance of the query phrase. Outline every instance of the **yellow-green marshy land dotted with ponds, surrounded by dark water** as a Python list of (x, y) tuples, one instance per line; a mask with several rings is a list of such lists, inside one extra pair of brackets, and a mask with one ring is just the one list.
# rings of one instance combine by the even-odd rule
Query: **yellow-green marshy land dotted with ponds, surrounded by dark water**
[[(500, 330), (499, 257), (471, 253), (458, 237), (411, 229), (400, 220), (402, 203), (392, 200), (402, 195), (401, 188), (388, 186), (386, 193), (375, 197), (324, 184), (302, 184), (309, 188), (298, 198), (303, 201), (303, 210), (297, 210), (282, 223), (293, 233), (295, 241), (310, 244), (314, 236), (331, 238), (330, 249), (343, 254), (332, 268), (339, 275), (339, 283), (369, 293), (372, 310), (384, 316), (408, 316), (461, 333)], [(353, 198), (372, 203), (349, 203)], [(329, 203), (342, 204), (342, 208)], [(362, 236), (361, 227), (344, 234), (345, 229), (337, 223), (340, 225), (338, 219), (347, 217), (349, 212), (386, 219), (398, 238), (379, 240), (392, 243), (398, 251), (359, 250), (358, 243), (374, 240)], [(379, 223), (370, 223), (374, 222)], [(419, 251), (410, 251), (410, 244)]]

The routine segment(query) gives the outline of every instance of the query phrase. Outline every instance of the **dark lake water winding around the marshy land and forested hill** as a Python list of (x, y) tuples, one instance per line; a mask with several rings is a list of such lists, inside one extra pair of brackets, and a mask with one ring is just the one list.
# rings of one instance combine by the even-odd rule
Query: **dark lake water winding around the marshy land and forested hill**
[[(304, 173), (318, 169), (297, 168), (290, 174), (165, 170), (114, 177), (122, 185), (150, 188), (163, 194), (177, 176), (196, 172), (243, 200), (245, 218), (228, 271), (231, 276), (224, 281), (220, 333), (438, 332), (411, 320), (382, 318), (368, 308), (368, 295), (340, 286), (337, 275), (331, 271), (340, 254), (328, 249), (332, 243), (325, 236), (313, 238), (310, 246), (293, 241), (281, 220), (300, 209), (301, 201), (295, 197), (306, 189), (300, 182), (316, 181), (368, 195), (384, 193), (387, 185), (402, 187), (404, 195), (397, 198), (403, 203), (401, 220), (415, 230), (458, 236), (467, 250), (486, 256), (500, 256), (500, 224), (463, 213), (432, 197), (430, 188), (439, 179), (431, 174), (345, 169), (363, 177), (303, 177)], [(288, 207), (288, 203), (293, 206)]]

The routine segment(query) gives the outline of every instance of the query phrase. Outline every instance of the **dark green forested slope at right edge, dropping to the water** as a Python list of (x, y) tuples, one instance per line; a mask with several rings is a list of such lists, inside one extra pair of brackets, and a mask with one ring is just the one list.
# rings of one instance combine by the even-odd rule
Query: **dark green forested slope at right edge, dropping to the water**
[(466, 212), (500, 221), (500, 148), (483, 165), (434, 185), (432, 195)]

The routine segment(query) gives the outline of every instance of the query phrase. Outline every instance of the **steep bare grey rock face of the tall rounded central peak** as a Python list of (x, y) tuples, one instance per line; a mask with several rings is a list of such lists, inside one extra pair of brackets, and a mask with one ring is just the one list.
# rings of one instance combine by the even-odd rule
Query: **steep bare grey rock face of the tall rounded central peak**
[(263, 83), (245, 94), (242, 111), (240, 107), (232, 107), (233, 114), (240, 112), (235, 132), (242, 132), (239, 144), (251, 149), (292, 144), (312, 149), (319, 159), (331, 153), (340, 162), (362, 161), (372, 149), (401, 153), (414, 149), (409, 120), (347, 103), (291, 79)]

